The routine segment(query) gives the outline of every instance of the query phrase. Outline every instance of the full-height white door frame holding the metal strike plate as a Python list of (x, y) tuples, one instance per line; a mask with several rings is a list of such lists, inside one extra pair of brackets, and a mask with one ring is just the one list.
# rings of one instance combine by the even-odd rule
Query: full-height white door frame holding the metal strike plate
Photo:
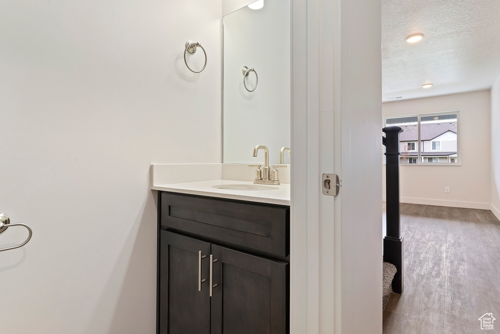
[[(291, 0), (290, 24), (290, 333), (381, 333), (381, 3)], [(362, 166), (358, 137), (373, 150)], [(336, 197), (321, 194), (322, 173), (339, 176)]]

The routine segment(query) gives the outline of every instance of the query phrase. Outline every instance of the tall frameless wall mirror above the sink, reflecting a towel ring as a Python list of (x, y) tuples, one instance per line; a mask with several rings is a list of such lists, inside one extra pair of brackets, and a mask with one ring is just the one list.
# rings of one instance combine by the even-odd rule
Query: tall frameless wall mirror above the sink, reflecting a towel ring
[[(223, 20), (223, 163), (262, 163), (252, 151), (265, 145), (269, 164), (277, 164), (281, 147), (290, 147), (290, 3), (252, 7), (262, 3)], [(286, 152), (283, 163), (290, 163)]]

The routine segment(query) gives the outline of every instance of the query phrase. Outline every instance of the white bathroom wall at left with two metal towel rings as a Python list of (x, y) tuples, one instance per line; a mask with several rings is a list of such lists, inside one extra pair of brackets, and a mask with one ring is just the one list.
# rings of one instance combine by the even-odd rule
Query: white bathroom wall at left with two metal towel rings
[[(220, 163), (220, 11), (2, 2), (0, 211), (33, 237), (0, 253), (1, 333), (155, 331), (149, 165)], [(201, 74), (187, 40), (206, 49)], [(24, 237), (9, 228), (0, 247)]]

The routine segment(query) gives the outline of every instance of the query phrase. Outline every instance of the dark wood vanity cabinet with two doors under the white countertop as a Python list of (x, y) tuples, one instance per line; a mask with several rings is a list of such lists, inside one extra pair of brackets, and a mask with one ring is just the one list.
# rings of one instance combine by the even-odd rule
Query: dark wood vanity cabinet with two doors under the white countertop
[[(166, 192), (158, 198), (157, 331), (288, 333), (289, 243), (284, 239), (289, 239), (289, 207)], [(179, 219), (188, 221), (181, 225)], [(194, 228), (196, 224), (200, 227)], [(212, 228), (218, 233), (210, 233)], [(244, 246), (238, 246), (238, 236)], [(276, 239), (282, 249), (266, 244), (263, 238)]]

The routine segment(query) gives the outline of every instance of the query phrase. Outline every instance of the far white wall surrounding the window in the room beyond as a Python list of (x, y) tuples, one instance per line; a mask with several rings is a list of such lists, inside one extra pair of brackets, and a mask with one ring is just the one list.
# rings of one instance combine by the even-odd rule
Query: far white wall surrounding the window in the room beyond
[[(489, 90), (382, 104), (384, 117), (454, 110), (460, 111), (458, 138), (461, 165), (402, 164), (401, 202), (489, 209)], [(385, 168), (382, 175), (385, 196)], [(445, 193), (444, 187), (450, 187), (450, 192)]]

